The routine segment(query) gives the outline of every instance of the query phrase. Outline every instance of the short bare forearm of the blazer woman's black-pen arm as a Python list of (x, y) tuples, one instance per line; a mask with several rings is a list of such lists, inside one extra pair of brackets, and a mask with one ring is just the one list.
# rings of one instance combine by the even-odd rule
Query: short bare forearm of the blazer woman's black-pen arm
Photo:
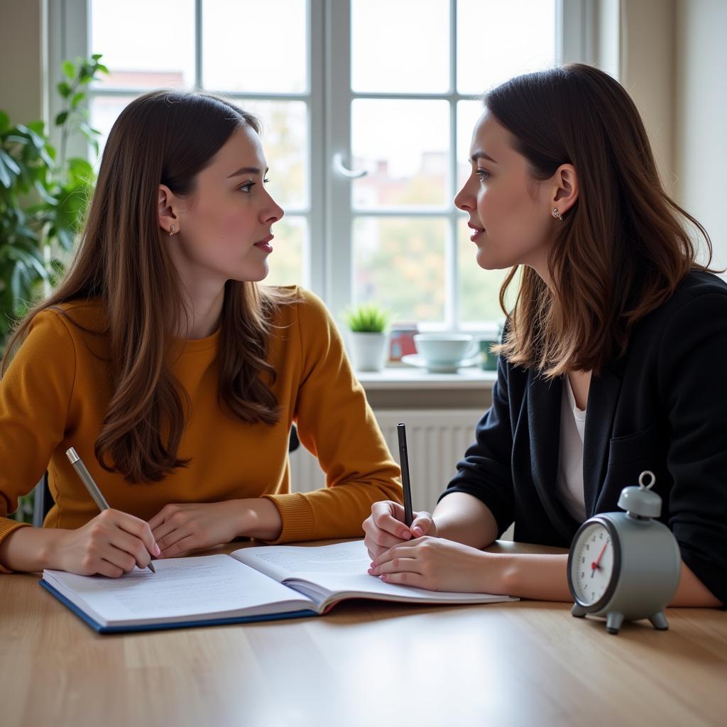
[(497, 521), (481, 500), (466, 492), (443, 497), (432, 513), (437, 536), (483, 548), (497, 538)]

